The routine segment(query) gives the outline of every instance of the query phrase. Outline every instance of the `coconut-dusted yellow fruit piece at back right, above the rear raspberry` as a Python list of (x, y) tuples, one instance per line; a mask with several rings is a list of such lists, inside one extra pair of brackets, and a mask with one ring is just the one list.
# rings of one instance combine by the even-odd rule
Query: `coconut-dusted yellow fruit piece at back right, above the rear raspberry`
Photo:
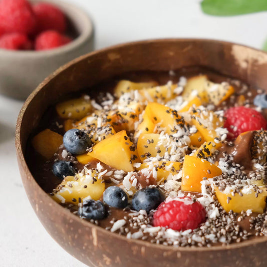
[(216, 106), (234, 93), (234, 88), (227, 83), (215, 84), (206, 81), (204, 88), (207, 92), (208, 102), (213, 103)]

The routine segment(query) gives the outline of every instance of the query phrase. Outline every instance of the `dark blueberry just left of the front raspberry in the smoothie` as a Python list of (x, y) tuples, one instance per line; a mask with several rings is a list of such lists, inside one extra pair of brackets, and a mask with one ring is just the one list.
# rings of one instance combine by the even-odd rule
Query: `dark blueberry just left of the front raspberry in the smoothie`
[(161, 190), (155, 187), (146, 187), (134, 194), (132, 207), (137, 211), (144, 209), (146, 212), (149, 212), (151, 209), (156, 209), (164, 200), (165, 195)]

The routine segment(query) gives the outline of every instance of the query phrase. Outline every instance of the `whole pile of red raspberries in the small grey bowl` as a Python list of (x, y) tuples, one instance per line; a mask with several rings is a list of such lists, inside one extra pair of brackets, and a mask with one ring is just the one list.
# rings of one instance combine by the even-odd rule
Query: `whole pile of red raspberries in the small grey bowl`
[(0, 49), (48, 50), (72, 41), (66, 17), (51, 4), (0, 0)]

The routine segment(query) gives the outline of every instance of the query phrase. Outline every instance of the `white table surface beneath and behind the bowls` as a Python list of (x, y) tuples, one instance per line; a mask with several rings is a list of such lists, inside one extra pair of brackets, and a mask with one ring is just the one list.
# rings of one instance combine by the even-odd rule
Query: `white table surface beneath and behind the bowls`
[[(219, 39), (261, 48), (267, 38), (267, 12), (217, 18), (204, 15), (197, 0), (68, 1), (91, 14), (96, 28), (96, 49), (122, 42), (167, 37)], [(0, 266), (85, 266), (52, 239), (27, 199), (14, 141), (22, 104), (0, 96), (0, 195), (3, 201)]]

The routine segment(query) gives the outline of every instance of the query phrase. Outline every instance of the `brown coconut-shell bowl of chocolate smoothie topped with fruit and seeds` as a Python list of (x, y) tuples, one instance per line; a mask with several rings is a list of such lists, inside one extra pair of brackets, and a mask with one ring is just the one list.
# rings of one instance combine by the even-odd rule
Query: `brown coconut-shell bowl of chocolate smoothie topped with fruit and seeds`
[(155, 40), (82, 56), (18, 118), (39, 219), (91, 266), (267, 262), (267, 54)]

